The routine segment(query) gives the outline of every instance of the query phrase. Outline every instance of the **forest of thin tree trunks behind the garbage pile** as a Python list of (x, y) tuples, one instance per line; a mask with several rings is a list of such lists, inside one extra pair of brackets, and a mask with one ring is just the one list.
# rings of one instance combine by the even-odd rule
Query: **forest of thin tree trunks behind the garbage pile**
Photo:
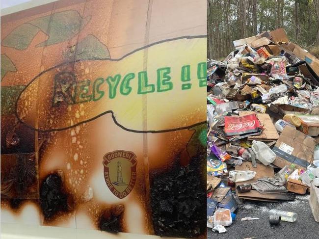
[(319, 58), (319, 0), (207, 0), (207, 57), (223, 60), (234, 40), (280, 27)]

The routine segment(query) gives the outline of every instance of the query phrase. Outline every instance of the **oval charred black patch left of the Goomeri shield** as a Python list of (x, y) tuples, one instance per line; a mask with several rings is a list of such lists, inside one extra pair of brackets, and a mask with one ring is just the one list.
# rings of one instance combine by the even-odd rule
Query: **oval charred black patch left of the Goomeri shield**
[(57, 173), (49, 174), (40, 186), (40, 205), (45, 219), (68, 211), (67, 196), (61, 177)]

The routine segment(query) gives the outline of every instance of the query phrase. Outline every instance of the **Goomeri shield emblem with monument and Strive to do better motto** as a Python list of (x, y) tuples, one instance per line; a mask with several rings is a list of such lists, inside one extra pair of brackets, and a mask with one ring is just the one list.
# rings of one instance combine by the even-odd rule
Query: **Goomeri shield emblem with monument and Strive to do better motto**
[(118, 198), (130, 194), (136, 181), (136, 155), (116, 150), (103, 157), (104, 179), (107, 187)]

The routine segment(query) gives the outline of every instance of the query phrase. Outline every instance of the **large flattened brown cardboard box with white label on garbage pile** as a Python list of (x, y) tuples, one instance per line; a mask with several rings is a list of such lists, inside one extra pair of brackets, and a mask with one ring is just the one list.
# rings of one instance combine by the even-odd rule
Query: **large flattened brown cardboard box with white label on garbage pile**
[(297, 169), (306, 169), (313, 162), (316, 144), (313, 137), (286, 126), (272, 149), (277, 155), (273, 164), (283, 168), (293, 163)]

